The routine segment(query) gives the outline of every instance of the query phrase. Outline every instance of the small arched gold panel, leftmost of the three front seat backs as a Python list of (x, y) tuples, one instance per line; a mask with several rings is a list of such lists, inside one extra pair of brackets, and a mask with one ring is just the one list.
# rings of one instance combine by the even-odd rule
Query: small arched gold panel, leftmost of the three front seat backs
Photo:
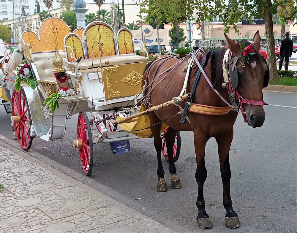
[[(73, 50), (72, 56), (74, 56), (76, 59), (79, 57), (84, 58), (83, 56), (83, 46), (81, 43), (80, 38), (76, 34), (69, 34), (65, 39), (65, 45), (69, 46)], [(70, 53), (72, 53), (71, 49), (66, 47), (67, 52), (67, 58), (68, 61), (75, 61), (74, 58), (71, 58)]]

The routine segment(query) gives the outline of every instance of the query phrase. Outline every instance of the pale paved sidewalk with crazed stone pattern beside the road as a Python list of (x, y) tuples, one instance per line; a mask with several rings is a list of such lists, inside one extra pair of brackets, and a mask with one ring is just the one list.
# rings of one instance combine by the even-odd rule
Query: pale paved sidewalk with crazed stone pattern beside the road
[(0, 233), (174, 233), (3, 141), (0, 183)]

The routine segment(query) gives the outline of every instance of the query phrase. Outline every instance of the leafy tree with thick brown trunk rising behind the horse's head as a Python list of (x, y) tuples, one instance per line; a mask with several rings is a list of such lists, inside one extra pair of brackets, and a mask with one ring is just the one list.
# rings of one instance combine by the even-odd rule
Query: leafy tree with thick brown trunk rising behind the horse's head
[(279, 20), (294, 21), (297, 14), (296, 0), (238, 0), (238, 1), (217, 1), (217, 0), (189, 0), (193, 7), (197, 9), (197, 22), (206, 20), (212, 21), (214, 15), (219, 15), (219, 20), (228, 32), (233, 26), (238, 32), (237, 22), (245, 18), (252, 23), (252, 17), (264, 18), (265, 33), (267, 42), (267, 63), (271, 80), (277, 80), (277, 66), (274, 55), (274, 34), (272, 16), (278, 12)]

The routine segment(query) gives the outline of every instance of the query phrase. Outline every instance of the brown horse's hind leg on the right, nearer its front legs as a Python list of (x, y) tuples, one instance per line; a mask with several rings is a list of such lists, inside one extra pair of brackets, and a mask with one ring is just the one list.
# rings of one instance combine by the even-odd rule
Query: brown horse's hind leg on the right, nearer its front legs
[(178, 189), (181, 188), (181, 180), (176, 175), (176, 167), (174, 164), (174, 158), (173, 158), (173, 146), (175, 142), (175, 136), (176, 136), (177, 130), (168, 128), (168, 131), (166, 132), (166, 148), (168, 153), (168, 170), (171, 175), (171, 182), (170, 186), (171, 188)]

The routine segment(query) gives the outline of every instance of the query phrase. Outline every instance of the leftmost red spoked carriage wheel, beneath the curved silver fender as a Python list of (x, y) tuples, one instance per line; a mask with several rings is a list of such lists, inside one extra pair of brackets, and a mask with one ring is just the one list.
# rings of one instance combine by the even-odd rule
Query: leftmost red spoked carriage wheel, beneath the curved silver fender
[(12, 123), (15, 129), (15, 135), (21, 148), (28, 151), (32, 145), (33, 137), (30, 135), (32, 125), (29, 104), (23, 88), (19, 92), (16, 90), (12, 93)]

